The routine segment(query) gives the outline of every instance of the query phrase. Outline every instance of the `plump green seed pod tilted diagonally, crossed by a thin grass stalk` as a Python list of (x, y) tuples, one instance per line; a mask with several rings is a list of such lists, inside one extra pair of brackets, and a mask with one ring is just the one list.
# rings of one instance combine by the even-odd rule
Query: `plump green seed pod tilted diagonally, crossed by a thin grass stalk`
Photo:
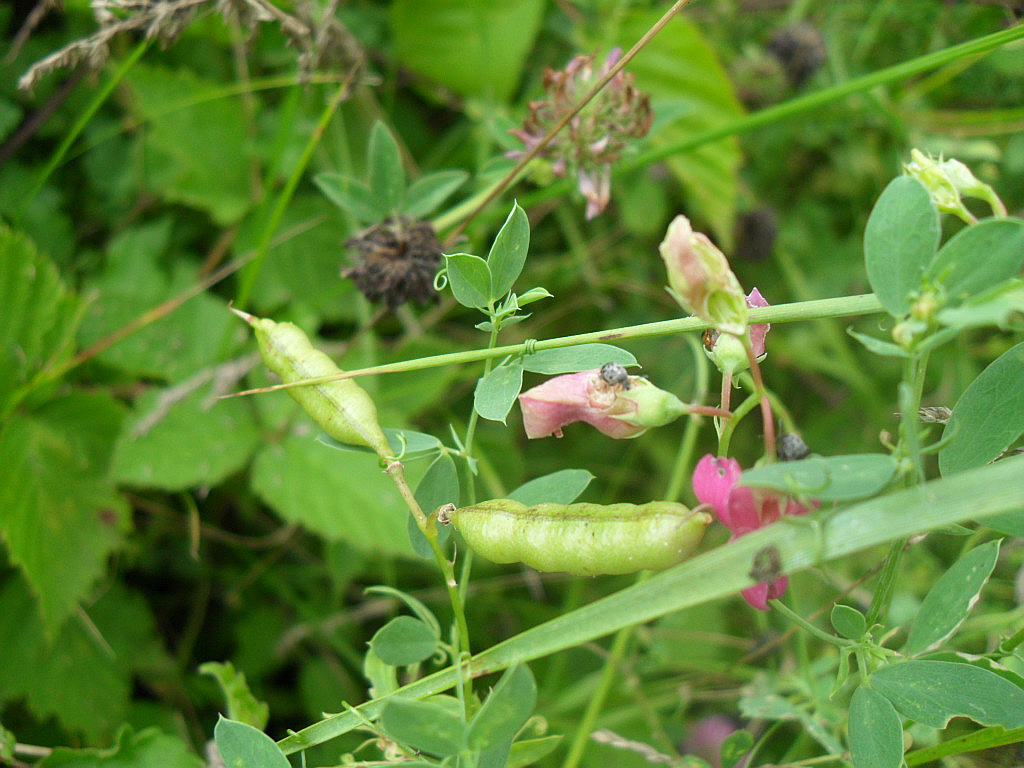
[[(256, 332), (266, 367), (286, 383), (342, 373), (330, 357), (309, 343), (298, 327), (234, 311)], [(377, 422), (377, 407), (351, 379), (293, 387), (288, 392), (338, 442), (370, 447), (381, 457), (391, 455), (387, 437)]]

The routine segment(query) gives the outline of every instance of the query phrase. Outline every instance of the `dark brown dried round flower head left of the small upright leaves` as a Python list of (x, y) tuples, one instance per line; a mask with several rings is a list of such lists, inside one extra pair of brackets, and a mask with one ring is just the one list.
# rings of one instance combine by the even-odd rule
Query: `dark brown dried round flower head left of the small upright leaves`
[(374, 224), (346, 246), (355, 250), (357, 263), (344, 269), (359, 292), (371, 301), (394, 308), (407, 301), (436, 300), (434, 274), (441, 259), (441, 244), (426, 221), (404, 217)]

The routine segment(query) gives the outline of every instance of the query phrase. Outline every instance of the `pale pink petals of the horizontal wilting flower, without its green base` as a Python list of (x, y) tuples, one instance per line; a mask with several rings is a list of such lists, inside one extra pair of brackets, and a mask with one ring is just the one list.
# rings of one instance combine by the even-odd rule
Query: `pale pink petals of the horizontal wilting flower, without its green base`
[[(598, 387), (600, 371), (581, 371), (548, 379), (519, 395), (522, 423), (529, 438), (562, 436), (562, 427), (583, 421), (609, 437), (633, 437), (646, 427), (628, 424), (623, 403), (612, 408), (615, 395)], [(625, 403), (627, 407), (629, 403)], [(611, 413), (614, 411), (614, 413)]]

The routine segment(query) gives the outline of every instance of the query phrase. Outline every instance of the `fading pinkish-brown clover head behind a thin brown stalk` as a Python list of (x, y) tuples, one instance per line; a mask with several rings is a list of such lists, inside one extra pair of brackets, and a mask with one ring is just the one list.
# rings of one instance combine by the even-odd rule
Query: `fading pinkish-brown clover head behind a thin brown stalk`
[[(561, 71), (548, 70), (544, 87), (548, 98), (531, 101), (521, 129), (512, 134), (524, 150), (510, 153), (522, 157), (562, 119), (594, 84), (604, 77), (622, 55), (613, 49), (599, 72), (594, 56), (575, 56)], [(587, 218), (604, 210), (611, 195), (611, 164), (620, 159), (630, 138), (640, 138), (650, 130), (653, 113), (650, 98), (634, 86), (633, 75), (620, 72), (568, 125), (541, 152), (551, 161), (558, 176), (577, 175), (580, 191), (587, 199)]]

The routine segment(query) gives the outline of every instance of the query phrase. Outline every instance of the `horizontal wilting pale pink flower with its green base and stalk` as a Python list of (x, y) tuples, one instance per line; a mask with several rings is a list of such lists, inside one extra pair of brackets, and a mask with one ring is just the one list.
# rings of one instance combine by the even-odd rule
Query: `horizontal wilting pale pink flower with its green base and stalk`
[(601, 369), (548, 379), (519, 395), (522, 423), (529, 438), (562, 436), (562, 427), (582, 421), (617, 439), (636, 437), (683, 414), (729, 417), (726, 411), (693, 406), (658, 389), (639, 376), (618, 381)]

